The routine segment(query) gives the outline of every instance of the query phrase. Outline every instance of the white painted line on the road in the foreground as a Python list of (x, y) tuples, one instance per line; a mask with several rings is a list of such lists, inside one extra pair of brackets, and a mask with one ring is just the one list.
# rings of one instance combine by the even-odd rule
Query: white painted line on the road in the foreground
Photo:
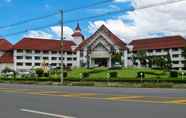
[(65, 116), (65, 115), (35, 111), (35, 110), (30, 110), (30, 109), (20, 109), (20, 111), (33, 113), (33, 114), (40, 114), (40, 115), (45, 115), (45, 116), (51, 116), (51, 117), (56, 117), (56, 118), (75, 118), (75, 117), (72, 117), (72, 116)]

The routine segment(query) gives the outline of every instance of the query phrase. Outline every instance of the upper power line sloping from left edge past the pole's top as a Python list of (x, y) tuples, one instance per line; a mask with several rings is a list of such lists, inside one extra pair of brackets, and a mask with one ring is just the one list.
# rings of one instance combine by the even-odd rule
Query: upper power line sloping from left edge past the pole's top
[[(81, 7), (77, 7), (77, 8), (68, 9), (68, 10), (65, 10), (64, 13), (69, 13), (69, 12), (77, 11), (77, 10), (80, 10), (80, 9), (87, 9), (89, 7), (93, 7), (93, 6), (97, 6), (97, 5), (101, 5), (101, 4), (106, 4), (106, 3), (109, 3), (109, 2), (112, 2), (112, 0), (99, 1), (99, 2), (89, 4), (87, 6), (81, 6)], [(18, 22), (12, 23), (12, 24), (2, 25), (2, 26), (0, 26), (0, 29), (15, 27), (15, 26), (23, 25), (23, 24), (26, 24), (26, 23), (29, 23), (29, 22), (33, 22), (33, 21), (37, 21), (37, 20), (41, 20), (41, 19), (46, 19), (46, 18), (55, 16), (57, 14), (59, 14), (59, 13), (54, 12), (54, 13), (51, 13), (51, 14), (48, 14), (48, 15), (45, 15), (45, 16), (34, 17), (34, 18), (23, 20), (23, 21), (18, 21)]]

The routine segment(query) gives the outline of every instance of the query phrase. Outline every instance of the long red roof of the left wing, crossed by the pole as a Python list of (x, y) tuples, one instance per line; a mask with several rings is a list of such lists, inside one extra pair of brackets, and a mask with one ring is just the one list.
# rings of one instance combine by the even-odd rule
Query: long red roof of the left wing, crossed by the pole
[[(75, 43), (73, 41), (63, 41), (64, 51), (72, 51), (71, 46), (74, 45)], [(21, 41), (14, 45), (14, 49), (60, 51), (61, 41), (42, 38), (23, 38)]]

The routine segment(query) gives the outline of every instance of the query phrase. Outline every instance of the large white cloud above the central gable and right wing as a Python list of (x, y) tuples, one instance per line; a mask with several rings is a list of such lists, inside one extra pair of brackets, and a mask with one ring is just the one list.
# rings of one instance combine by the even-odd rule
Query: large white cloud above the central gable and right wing
[[(122, 0), (116, 0), (122, 1)], [(164, 3), (168, 0), (135, 0), (136, 8)], [(170, 2), (171, 0), (169, 0)], [(176, 0), (172, 0), (175, 2)], [(134, 3), (133, 3), (134, 4)], [(125, 42), (162, 35), (186, 36), (186, 1), (130, 11), (115, 19), (89, 23), (89, 32), (105, 24)]]

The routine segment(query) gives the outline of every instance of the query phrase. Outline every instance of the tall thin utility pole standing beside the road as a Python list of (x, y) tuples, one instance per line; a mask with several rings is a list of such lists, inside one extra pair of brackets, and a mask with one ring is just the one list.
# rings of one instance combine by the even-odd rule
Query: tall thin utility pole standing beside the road
[(63, 84), (63, 10), (60, 10), (60, 15), (61, 15), (61, 84)]

